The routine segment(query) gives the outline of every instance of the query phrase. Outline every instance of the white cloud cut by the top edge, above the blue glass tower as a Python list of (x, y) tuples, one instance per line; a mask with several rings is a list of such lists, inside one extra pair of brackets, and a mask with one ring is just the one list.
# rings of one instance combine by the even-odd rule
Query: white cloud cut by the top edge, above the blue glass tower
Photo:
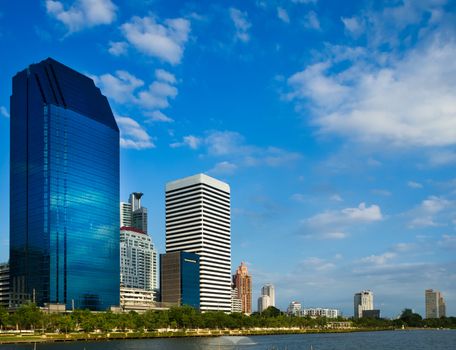
[(117, 7), (111, 0), (76, 0), (65, 9), (61, 1), (46, 0), (46, 11), (72, 33), (86, 27), (112, 23), (116, 19)]

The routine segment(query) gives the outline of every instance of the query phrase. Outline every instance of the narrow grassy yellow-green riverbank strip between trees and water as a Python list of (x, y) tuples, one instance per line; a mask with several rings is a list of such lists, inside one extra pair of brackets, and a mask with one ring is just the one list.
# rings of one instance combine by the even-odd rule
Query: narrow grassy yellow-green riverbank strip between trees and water
[(123, 339), (153, 339), (179, 337), (255, 336), (279, 334), (352, 333), (386, 331), (393, 328), (344, 328), (344, 329), (166, 329), (153, 332), (91, 332), (91, 333), (45, 333), (45, 334), (0, 334), (0, 344), (52, 343), (72, 341), (109, 341)]

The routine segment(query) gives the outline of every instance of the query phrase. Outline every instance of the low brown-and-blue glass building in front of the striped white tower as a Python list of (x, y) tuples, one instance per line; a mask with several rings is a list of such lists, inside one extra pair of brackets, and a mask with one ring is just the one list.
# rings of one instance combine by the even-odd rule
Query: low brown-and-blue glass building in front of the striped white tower
[(200, 259), (196, 253), (160, 254), (160, 294), (164, 303), (200, 308)]

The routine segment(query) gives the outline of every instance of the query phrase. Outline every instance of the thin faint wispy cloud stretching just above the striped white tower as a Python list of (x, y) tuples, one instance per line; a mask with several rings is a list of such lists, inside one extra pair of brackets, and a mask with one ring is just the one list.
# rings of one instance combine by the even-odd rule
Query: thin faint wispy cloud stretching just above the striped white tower
[[(289, 152), (277, 147), (257, 147), (250, 145), (245, 138), (234, 131), (210, 131), (204, 136), (188, 135), (182, 141), (170, 145), (173, 148), (189, 147), (201, 149), (211, 157), (229, 158), (229, 164), (235, 164), (235, 170), (241, 166), (286, 166), (301, 158), (296, 152)], [(227, 165), (227, 163), (223, 164)]]

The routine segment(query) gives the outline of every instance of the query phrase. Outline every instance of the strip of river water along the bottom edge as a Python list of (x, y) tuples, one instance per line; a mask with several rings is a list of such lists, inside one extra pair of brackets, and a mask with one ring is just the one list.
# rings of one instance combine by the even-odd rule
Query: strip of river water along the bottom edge
[[(0, 345), (0, 349), (34, 349)], [(175, 338), (37, 344), (37, 350), (455, 350), (456, 330)]]

